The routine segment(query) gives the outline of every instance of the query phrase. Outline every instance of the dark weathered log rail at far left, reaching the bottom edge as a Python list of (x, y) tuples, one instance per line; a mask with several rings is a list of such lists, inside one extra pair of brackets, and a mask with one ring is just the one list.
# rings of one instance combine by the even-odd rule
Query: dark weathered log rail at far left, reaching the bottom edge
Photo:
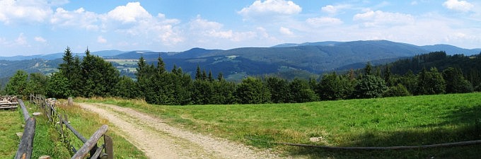
[(15, 158), (31, 158), (33, 150), (33, 137), (35, 136), (35, 118), (29, 117), (23, 130), (22, 140), (18, 144)]

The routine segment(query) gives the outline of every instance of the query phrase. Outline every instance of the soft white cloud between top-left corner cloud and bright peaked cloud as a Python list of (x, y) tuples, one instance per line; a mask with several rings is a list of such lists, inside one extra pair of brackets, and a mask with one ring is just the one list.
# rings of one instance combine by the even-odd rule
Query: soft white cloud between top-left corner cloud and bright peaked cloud
[(62, 27), (78, 27), (86, 30), (98, 30), (99, 15), (79, 8), (75, 11), (66, 11), (64, 8), (57, 8), (50, 19), (50, 23)]

